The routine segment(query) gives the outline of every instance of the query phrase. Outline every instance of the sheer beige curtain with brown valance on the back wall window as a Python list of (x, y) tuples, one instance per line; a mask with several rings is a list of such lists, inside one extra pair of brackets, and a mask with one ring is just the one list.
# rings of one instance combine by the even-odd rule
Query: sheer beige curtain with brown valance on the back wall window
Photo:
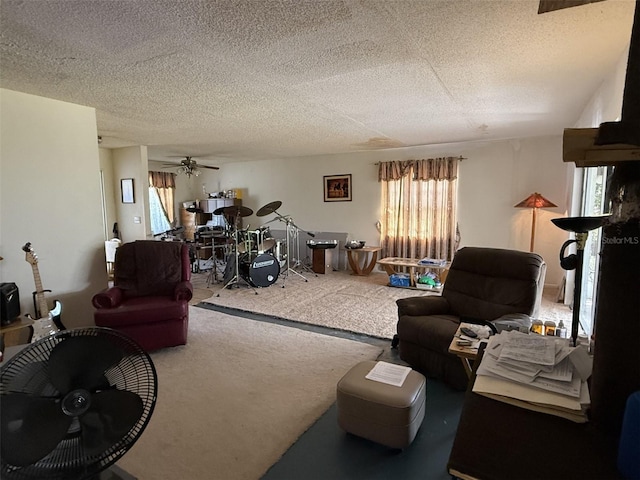
[(457, 248), (456, 157), (381, 162), (380, 245), (387, 257), (451, 260)]

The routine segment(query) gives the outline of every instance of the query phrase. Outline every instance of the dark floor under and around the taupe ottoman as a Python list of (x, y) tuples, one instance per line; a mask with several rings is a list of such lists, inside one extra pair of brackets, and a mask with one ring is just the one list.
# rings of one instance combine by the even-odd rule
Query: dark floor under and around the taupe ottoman
[[(403, 363), (387, 339), (343, 332), (218, 307), (199, 307), (268, 321), (325, 335), (378, 345), (384, 349), (379, 360)], [(455, 437), (464, 392), (435, 380), (427, 381), (425, 418), (415, 440), (403, 451), (358, 438), (342, 431), (337, 423), (335, 403), (274, 464), (262, 480), (360, 480), (426, 479), (449, 480), (447, 460)]]

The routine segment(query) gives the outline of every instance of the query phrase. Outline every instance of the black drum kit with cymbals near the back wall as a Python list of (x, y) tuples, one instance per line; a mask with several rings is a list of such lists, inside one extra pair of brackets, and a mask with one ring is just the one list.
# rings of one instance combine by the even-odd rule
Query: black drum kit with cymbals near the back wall
[[(286, 280), (289, 273), (299, 275), (308, 281), (294, 269), (301, 264), (298, 243), (300, 229), (293, 223), (290, 216), (282, 216), (277, 212), (281, 206), (280, 201), (268, 203), (256, 212), (256, 216), (264, 217), (275, 213), (276, 218), (271, 221), (280, 220), (286, 223), (286, 239), (274, 238), (267, 225), (256, 230), (241, 229), (240, 219), (253, 214), (253, 210), (248, 207), (232, 205), (221, 207), (213, 212), (214, 215), (224, 216), (229, 231), (230, 251), (225, 255), (226, 266), (222, 277), (222, 290), (237, 285), (241, 281), (250, 287), (269, 287), (281, 275)], [(313, 236), (312, 233), (308, 235)], [(289, 255), (289, 252), (293, 256)], [(282, 286), (284, 288), (284, 281)]]

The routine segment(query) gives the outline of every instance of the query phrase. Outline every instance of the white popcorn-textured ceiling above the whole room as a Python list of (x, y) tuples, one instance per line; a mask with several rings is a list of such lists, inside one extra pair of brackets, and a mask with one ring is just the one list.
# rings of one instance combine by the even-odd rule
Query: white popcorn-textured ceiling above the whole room
[(103, 146), (233, 160), (561, 134), (633, 0), (2, 0), (0, 85), (95, 107)]

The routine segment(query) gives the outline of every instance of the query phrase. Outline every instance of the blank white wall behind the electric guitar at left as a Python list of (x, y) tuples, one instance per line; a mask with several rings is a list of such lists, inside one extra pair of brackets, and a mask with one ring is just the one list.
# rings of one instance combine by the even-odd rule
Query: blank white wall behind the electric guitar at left
[(6, 89), (0, 109), (0, 280), (33, 313), (21, 250), (31, 242), (65, 325), (92, 325), (91, 297), (107, 281), (95, 110)]

